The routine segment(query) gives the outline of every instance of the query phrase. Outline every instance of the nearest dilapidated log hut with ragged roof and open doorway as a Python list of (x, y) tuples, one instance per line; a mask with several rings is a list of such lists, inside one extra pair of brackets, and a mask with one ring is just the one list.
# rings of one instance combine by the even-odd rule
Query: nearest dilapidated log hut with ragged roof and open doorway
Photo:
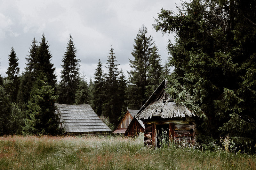
[(163, 80), (146, 103), (135, 115), (145, 125), (144, 144), (160, 145), (161, 140), (186, 140), (194, 144), (196, 115), (186, 106), (178, 105), (165, 92), (167, 81)]

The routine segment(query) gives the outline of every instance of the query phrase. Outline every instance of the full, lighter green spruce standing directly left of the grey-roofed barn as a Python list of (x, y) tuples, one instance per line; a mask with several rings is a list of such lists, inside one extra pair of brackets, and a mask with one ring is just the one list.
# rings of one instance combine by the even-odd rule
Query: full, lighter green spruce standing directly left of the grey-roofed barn
[(59, 134), (59, 115), (55, 114), (54, 103), (58, 96), (54, 96), (54, 88), (49, 85), (47, 77), (39, 75), (28, 102), (28, 118), (23, 131), (25, 134), (54, 135)]

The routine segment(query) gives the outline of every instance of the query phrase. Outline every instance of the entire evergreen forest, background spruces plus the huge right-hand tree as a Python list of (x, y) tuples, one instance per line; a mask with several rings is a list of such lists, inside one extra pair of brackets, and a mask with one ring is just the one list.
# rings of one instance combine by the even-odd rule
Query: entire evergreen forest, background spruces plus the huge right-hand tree
[(166, 44), (168, 63), (162, 64), (157, 44), (142, 25), (131, 44), (128, 77), (118, 69), (119, 56), (110, 46), (93, 78), (85, 79), (71, 34), (59, 82), (44, 34), (31, 41), (24, 72), (11, 47), (7, 76), (0, 77), (0, 135), (62, 134), (54, 103), (89, 104), (115, 129), (126, 109), (140, 109), (165, 78), (172, 99), (198, 115), (197, 141), (204, 148), (228, 136), (238, 150), (255, 151), (255, 7), (254, 0), (191, 0), (177, 6), (178, 12), (160, 9), (153, 28), (176, 35)]

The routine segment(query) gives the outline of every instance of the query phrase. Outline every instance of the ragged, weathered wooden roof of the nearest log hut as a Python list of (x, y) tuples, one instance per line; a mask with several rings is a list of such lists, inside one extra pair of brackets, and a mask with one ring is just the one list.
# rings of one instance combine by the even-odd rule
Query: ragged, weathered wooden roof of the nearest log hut
[(138, 119), (151, 119), (152, 116), (161, 116), (163, 119), (196, 116), (186, 106), (179, 105), (173, 99), (169, 99), (169, 94), (165, 92), (166, 86), (167, 81), (163, 80), (136, 114)]

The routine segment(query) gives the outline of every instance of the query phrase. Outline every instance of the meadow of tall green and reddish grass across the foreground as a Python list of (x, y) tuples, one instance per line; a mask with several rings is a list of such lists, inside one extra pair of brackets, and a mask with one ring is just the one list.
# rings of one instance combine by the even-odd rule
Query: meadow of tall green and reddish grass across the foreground
[(256, 169), (256, 156), (169, 145), (143, 137), (0, 137), (0, 169)]

